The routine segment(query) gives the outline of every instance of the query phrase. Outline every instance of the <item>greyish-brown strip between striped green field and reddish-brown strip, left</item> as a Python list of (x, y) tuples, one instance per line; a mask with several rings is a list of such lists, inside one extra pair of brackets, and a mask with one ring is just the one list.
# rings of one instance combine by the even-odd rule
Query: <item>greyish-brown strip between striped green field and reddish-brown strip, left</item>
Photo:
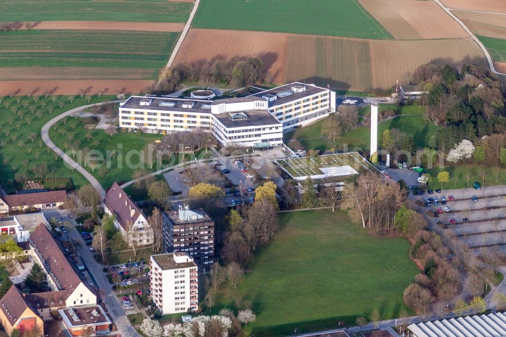
[(140, 79), (152, 78), (152, 69), (127, 68), (0, 68), (2, 80)]

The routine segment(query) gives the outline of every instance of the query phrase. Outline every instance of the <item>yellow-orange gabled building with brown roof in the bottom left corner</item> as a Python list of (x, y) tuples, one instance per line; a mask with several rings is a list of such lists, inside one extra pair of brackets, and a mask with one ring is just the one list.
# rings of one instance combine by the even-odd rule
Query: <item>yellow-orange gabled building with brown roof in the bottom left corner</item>
[(15, 285), (12, 285), (0, 299), (0, 323), (9, 335), (13, 329), (18, 329), (23, 334), (33, 328), (40, 329), (41, 334), (44, 335), (42, 319), (25, 301)]

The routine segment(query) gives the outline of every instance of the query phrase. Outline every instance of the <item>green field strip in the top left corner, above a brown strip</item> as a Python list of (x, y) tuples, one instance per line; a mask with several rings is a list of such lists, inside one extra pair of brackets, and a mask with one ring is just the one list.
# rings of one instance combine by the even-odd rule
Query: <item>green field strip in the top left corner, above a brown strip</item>
[[(12, 0), (0, 2), (0, 22), (16, 21), (135, 21), (186, 22), (192, 3), (160, 0)], [(136, 41), (137, 42), (137, 41)]]

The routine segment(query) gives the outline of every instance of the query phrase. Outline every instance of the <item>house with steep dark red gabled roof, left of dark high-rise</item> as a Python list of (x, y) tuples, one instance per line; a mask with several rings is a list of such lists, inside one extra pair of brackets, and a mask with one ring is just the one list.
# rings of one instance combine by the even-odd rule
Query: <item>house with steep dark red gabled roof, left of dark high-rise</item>
[[(153, 243), (153, 230), (148, 218), (117, 183), (107, 191), (104, 198), (104, 212), (116, 217), (114, 226), (125, 237), (129, 246), (132, 242), (136, 246)], [(131, 238), (128, 235), (131, 235)]]

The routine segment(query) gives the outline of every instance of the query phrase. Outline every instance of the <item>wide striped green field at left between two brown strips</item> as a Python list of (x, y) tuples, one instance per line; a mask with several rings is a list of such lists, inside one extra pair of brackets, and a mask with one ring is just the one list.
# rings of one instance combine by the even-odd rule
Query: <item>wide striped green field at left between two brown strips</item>
[[(125, 38), (128, 36), (128, 42)], [(2, 67), (163, 67), (179, 33), (18, 30), (0, 33)]]

